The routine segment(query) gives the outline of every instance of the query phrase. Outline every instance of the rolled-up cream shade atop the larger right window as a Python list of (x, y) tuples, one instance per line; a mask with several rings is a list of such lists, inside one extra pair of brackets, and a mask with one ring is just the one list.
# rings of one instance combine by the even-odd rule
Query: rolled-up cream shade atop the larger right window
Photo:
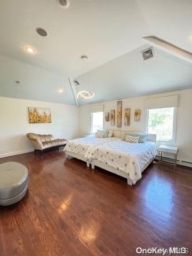
[(166, 108), (166, 107), (177, 107), (179, 95), (170, 95), (165, 97), (156, 97), (145, 99), (145, 108)]

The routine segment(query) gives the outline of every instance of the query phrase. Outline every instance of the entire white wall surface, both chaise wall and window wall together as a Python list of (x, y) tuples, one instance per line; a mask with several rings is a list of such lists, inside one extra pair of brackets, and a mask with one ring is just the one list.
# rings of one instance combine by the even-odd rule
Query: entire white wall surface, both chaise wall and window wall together
[[(158, 94), (158, 96), (172, 94), (179, 94), (175, 142), (175, 145), (179, 147), (178, 158), (183, 161), (192, 162), (192, 89)], [(123, 99), (122, 116), (124, 116), (124, 108), (130, 107), (131, 125), (124, 126), (124, 119), (122, 117), (121, 129), (118, 129), (116, 125), (110, 126), (110, 122), (104, 121), (105, 129), (145, 131), (144, 99), (153, 98), (154, 96), (156, 95)], [(101, 103), (94, 105), (101, 105)], [(117, 108), (117, 100), (103, 102), (103, 105), (104, 112), (108, 112), (111, 109)], [(29, 124), (28, 107), (51, 108), (52, 123)], [(134, 110), (137, 108), (141, 109), (140, 122), (134, 121)], [(91, 133), (90, 105), (77, 107), (60, 103), (0, 97), (0, 157), (32, 151), (33, 147), (26, 137), (28, 132), (51, 133), (55, 138), (66, 139), (89, 134)], [(171, 144), (173, 145), (174, 143)]]

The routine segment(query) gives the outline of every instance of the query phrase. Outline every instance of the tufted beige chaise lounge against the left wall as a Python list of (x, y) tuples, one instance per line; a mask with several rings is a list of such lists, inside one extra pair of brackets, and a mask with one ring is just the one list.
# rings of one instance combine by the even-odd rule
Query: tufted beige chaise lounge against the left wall
[(36, 133), (27, 133), (27, 138), (31, 141), (36, 151), (41, 151), (41, 156), (43, 155), (43, 150), (47, 148), (65, 146), (67, 144), (66, 139), (54, 139), (51, 134), (36, 134)]

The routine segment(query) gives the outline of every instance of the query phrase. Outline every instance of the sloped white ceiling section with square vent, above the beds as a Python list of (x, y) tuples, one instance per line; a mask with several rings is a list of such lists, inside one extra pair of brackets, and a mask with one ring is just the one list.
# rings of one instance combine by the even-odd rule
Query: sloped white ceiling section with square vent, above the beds
[[(192, 87), (192, 64), (154, 47), (155, 57), (143, 61), (143, 45), (90, 71), (94, 98), (81, 104), (138, 97)], [(77, 77), (81, 82), (81, 76)]]

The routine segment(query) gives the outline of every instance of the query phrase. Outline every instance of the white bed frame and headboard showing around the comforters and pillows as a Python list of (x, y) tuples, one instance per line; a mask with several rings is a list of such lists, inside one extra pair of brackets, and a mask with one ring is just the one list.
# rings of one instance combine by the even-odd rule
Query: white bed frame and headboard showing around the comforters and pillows
[[(123, 138), (126, 132), (129, 132), (129, 131), (115, 131), (114, 130), (114, 137)], [(155, 134), (148, 134), (147, 140), (154, 141), (156, 143), (156, 135)], [(90, 167), (90, 162), (87, 161), (87, 159), (85, 159), (84, 156), (82, 156), (80, 154), (72, 153), (72, 152), (69, 152), (69, 151), (65, 151), (65, 153), (66, 153), (68, 159), (75, 157), (77, 159), (80, 159), (80, 160), (86, 162), (87, 167)], [(154, 159), (155, 159), (155, 157), (153, 159), (150, 159), (150, 161), (143, 167), (141, 173), (147, 168), (147, 166), (149, 166), (150, 163), (152, 163), (154, 161)], [(106, 171), (115, 173), (115, 174), (117, 174), (121, 177), (126, 178), (127, 179), (127, 184), (130, 185), (130, 186), (133, 184), (132, 181), (130, 180), (129, 176), (123, 171), (117, 170), (114, 167), (111, 167), (111, 166), (109, 166), (107, 164), (104, 164), (100, 161), (92, 160), (91, 161), (91, 168), (95, 169), (95, 166), (98, 166), (98, 167), (100, 167), (100, 168), (102, 168)]]

